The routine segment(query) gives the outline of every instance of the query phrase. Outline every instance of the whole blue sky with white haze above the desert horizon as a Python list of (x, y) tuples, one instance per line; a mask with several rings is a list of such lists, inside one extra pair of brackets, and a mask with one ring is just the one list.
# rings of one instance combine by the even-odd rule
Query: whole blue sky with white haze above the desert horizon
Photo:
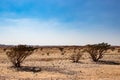
[(120, 0), (0, 0), (0, 44), (120, 45)]

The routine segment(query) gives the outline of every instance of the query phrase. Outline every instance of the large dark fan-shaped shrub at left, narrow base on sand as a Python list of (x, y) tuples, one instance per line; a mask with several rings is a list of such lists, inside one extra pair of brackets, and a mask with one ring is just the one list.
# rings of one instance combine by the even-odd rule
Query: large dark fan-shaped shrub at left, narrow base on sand
[(37, 48), (27, 45), (18, 45), (5, 51), (13, 66), (18, 68), (21, 67), (21, 63), (24, 61), (24, 59), (31, 55), (35, 49)]

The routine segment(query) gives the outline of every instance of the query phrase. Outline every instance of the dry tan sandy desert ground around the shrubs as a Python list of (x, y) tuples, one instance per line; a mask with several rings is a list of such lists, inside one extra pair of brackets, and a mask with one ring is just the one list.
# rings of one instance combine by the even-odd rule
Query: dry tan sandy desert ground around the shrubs
[[(79, 47), (78, 47), (79, 48)], [(120, 52), (108, 50), (99, 62), (83, 53), (78, 63), (69, 58), (72, 47), (39, 48), (22, 63), (22, 69), (12, 68), (3, 49), (0, 49), (0, 80), (120, 80)]]

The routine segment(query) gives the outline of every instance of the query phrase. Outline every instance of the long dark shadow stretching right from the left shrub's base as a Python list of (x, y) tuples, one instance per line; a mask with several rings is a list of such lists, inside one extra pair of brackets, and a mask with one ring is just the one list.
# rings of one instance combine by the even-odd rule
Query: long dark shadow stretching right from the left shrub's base
[(41, 71), (55, 72), (55, 73), (61, 73), (67, 75), (74, 75), (77, 73), (76, 71), (71, 71), (65, 68), (54, 67), (54, 66), (41, 66), (41, 67), (21, 66), (20, 68), (15, 68), (12, 66), (11, 68), (14, 68), (16, 71), (25, 71), (25, 72), (33, 72), (33, 73), (38, 73)]

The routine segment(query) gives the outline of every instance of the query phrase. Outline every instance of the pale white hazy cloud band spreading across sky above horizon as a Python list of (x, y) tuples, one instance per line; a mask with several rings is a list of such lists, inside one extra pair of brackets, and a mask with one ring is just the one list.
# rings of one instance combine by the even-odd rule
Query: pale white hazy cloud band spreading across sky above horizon
[(99, 42), (120, 43), (118, 41), (120, 39), (117, 35), (115, 36), (115, 33), (109, 34), (109, 32), (104, 31), (104, 28), (101, 27), (102, 25), (99, 25), (99, 27), (96, 26), (91, 27), (89, 24), (77, 22), (63, 23), (56, 19), (48, 21), (28, 18), (5, 19), (2, 25), (0, 25), (0, 43), (34, 45), (85, 45)]

